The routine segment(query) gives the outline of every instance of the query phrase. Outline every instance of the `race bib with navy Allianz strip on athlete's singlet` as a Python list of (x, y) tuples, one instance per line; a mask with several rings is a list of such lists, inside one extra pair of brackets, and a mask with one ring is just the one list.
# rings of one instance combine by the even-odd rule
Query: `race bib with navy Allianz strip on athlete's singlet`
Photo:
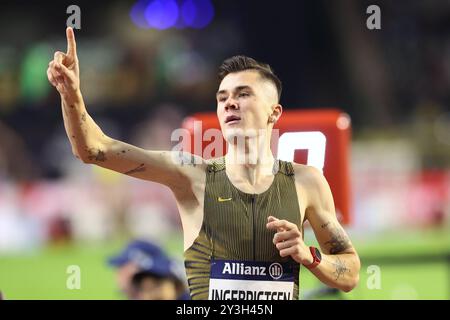
[(292, 300), (292, 264), (212, 260), (209, 300)]

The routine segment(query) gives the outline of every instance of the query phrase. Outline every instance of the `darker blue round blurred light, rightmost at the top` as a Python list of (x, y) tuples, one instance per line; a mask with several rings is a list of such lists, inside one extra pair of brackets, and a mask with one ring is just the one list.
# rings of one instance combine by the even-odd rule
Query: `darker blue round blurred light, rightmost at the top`
[(185, 23), (195, 29), (206, 27), (214, 17), (214, 7), (209, 0), (186, 0), (181, 6)]

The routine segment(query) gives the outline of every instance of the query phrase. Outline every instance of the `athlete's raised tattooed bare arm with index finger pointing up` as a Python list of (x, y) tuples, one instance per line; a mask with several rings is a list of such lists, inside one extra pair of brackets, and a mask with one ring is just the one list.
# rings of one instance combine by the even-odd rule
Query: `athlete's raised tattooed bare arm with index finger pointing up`
[[(172, 189), (185, 188), (190, 168), (174, 161), (172, 151), (149, 151), (108, 137), (86, 110), (80, 90), (80, 71), (75, 35), (66, 29), (67, 52), (55, 52), (47, 76), (61, 96), (64, 126), (73, 154), (84, 163), (96, 164), (136, 178), (165, 184)], [(186, 156), (185, 156), (186, 157)], [(187, 155), (186, 162), (202, 162)], [(200, 169), (197, 166), (194, 170)]]

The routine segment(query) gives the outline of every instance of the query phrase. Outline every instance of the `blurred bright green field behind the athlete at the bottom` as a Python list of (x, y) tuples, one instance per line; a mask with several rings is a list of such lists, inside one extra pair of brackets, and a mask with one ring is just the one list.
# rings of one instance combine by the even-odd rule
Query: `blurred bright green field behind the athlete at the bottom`
[[(301, 298), (450, 299), (449, 234), (449, 230), (431, 230), (380, 234), (373, 240), (353, 237), (362, 262), (358, 287), (349, 293), (324, 292), (319, 281), (303, 268)], [(181, 258), (182, 239), (176, 234), (171, 239), (167, 251)], [(313, 241), (310, 233), (306, 241)], [(3, 256), (2, 290), (8, 299), (123, 299), (114, 272), (106, 265), (106, 259), (123, 244), (118, 240), (102, 246), (58, 245), (32, 255)], [(80, 267), (80, 289), (66, 287), (70, 265)], [(373, 287), (373, 279), (369, 279), (374, 276), (368, 269), (371, 265), (379, 267), (379, 288)]]

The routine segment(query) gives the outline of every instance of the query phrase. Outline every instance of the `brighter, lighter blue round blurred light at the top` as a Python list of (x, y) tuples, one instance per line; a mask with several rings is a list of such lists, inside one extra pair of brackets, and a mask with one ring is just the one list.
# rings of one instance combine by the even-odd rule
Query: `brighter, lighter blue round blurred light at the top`
[(178, 5), (174, 0), (154, 0), (145, 9), (147, 23), (156, 29), (173, 27), (178, 20)]

